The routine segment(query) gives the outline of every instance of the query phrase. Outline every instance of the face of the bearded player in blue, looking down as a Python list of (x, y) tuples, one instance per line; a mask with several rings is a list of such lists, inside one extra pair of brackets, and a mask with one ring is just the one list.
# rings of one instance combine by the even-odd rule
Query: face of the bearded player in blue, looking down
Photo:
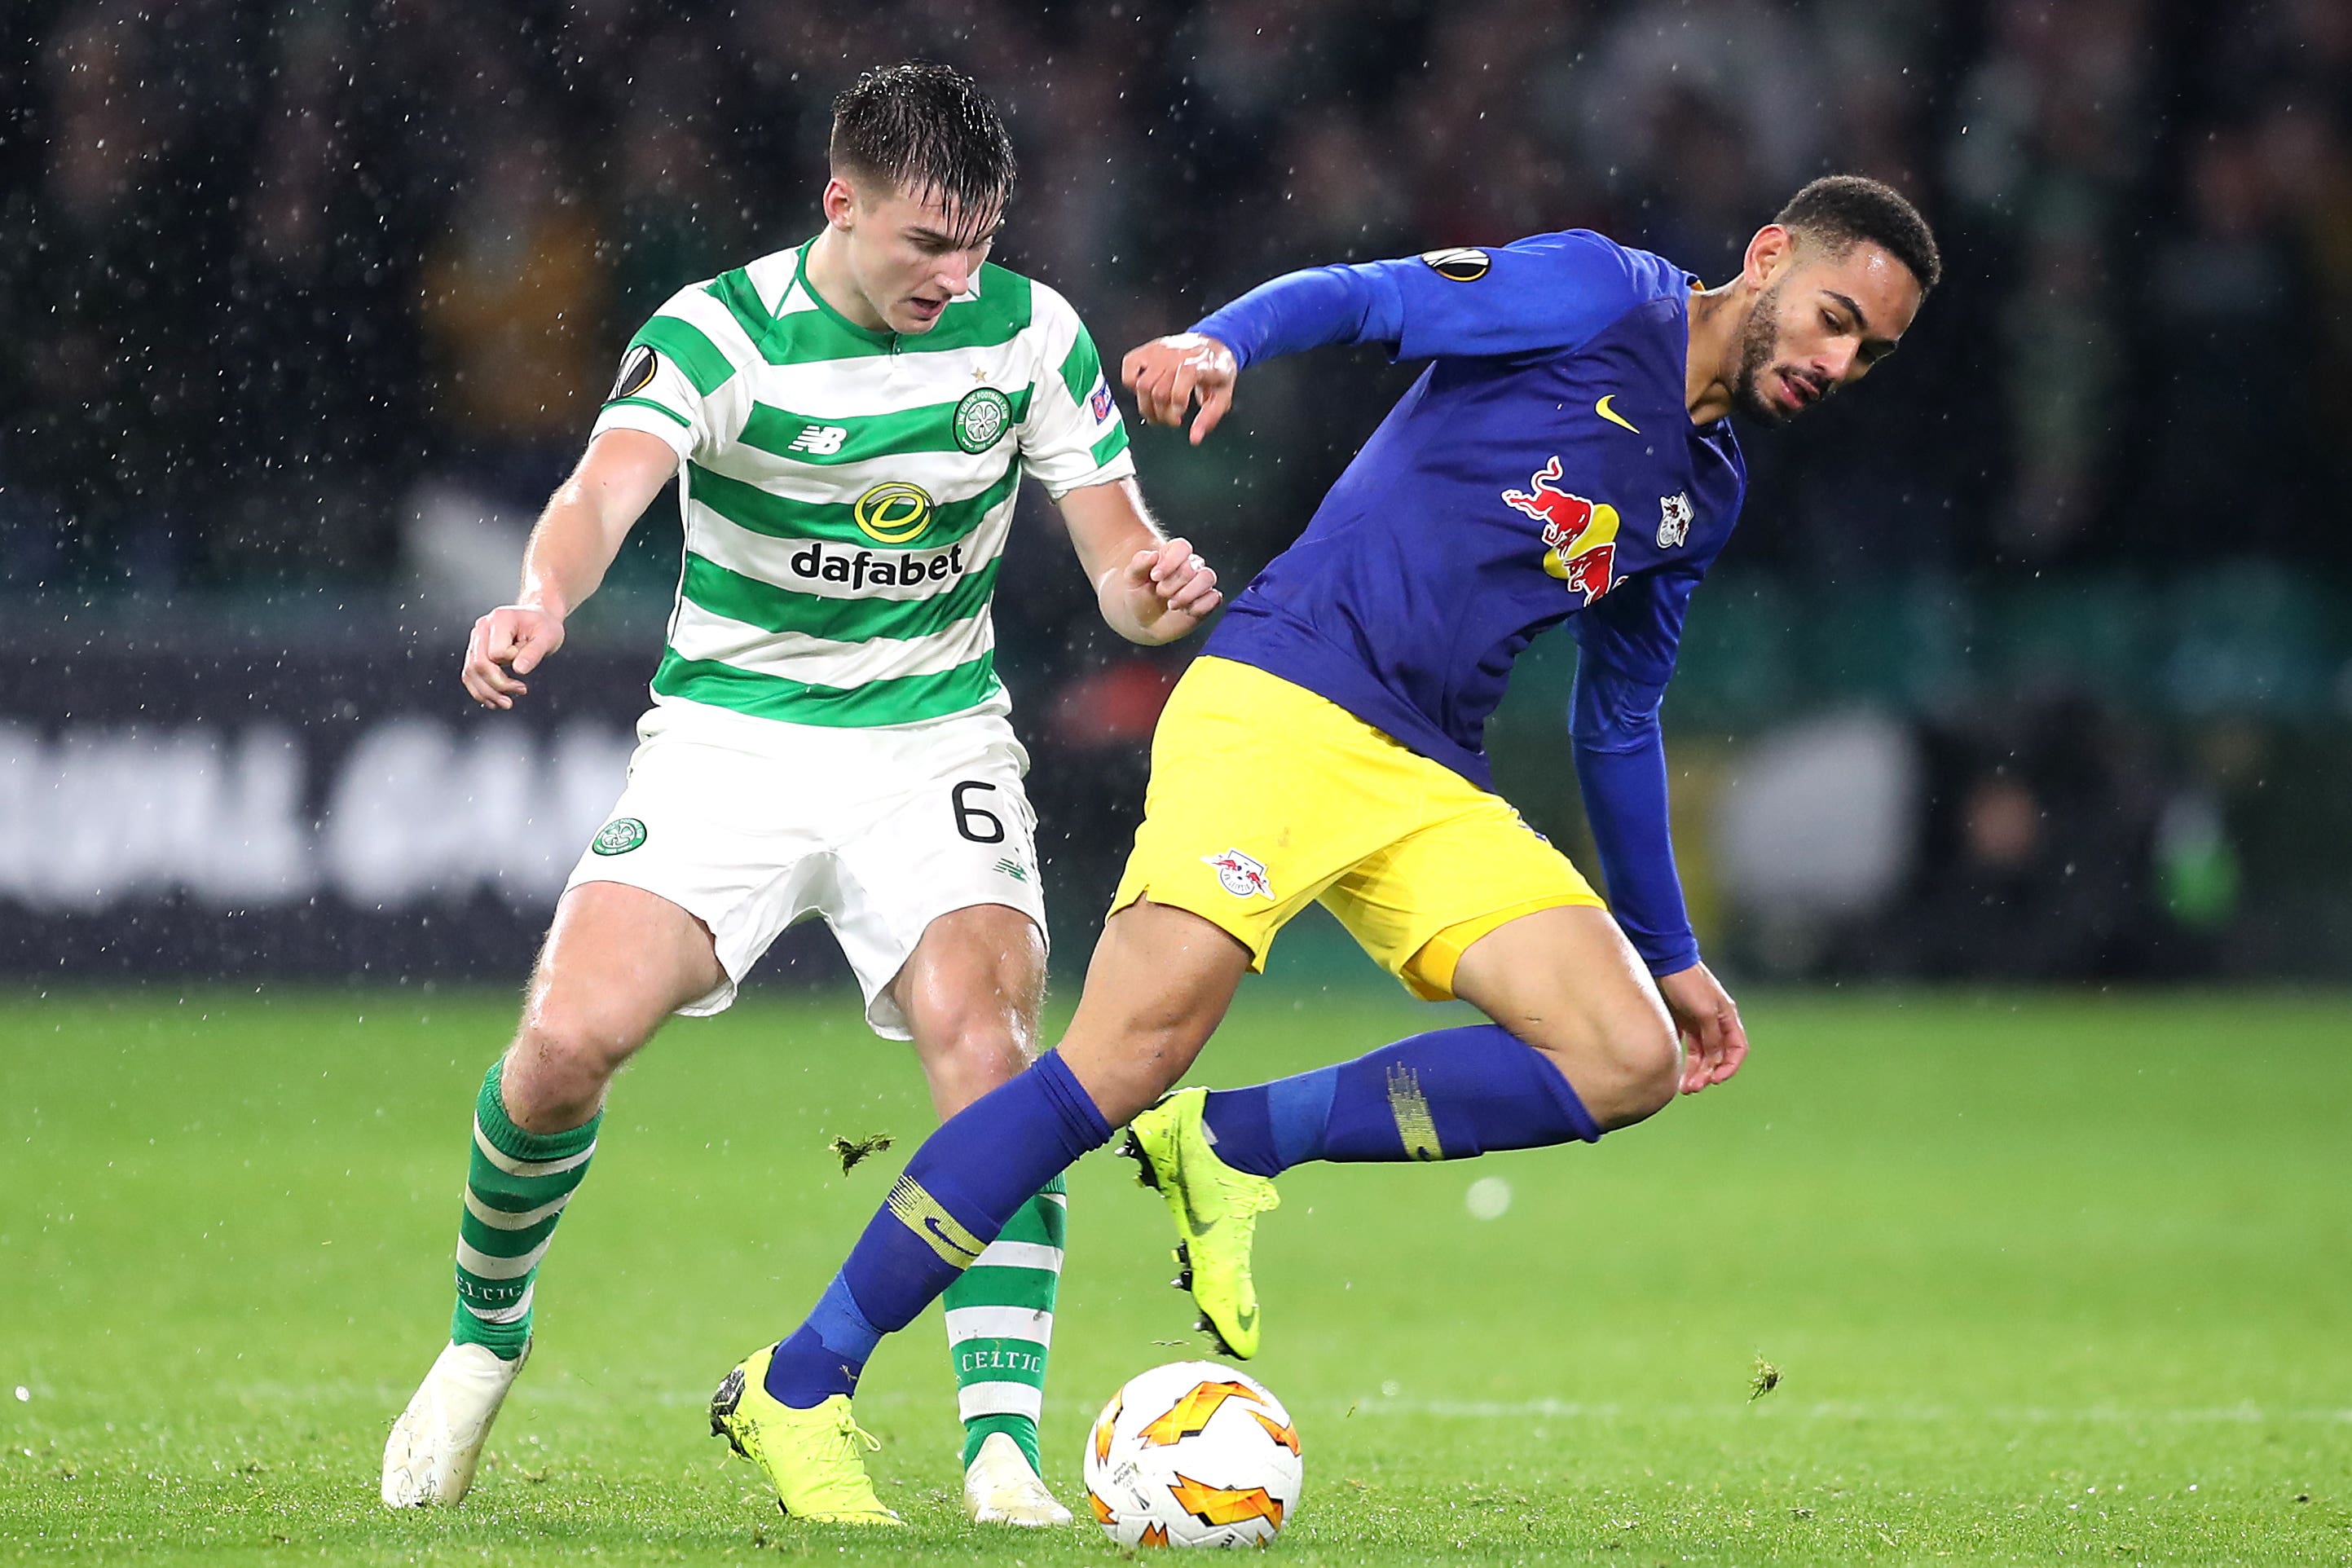
[(1919, 315), (1919, 280), (1877, 244), (1797, 249), (1740, 331), (1731, 400), (1778, 425), (1870, 374)]

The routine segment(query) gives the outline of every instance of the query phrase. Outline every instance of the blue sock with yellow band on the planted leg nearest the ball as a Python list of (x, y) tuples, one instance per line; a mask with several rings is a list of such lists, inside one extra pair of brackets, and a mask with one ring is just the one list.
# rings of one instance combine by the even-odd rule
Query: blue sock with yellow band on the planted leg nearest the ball
[(795, 1410), (854, 1394), (882, 1335), (913, 1324), (1040, 1187), (1105, 1143), (1110, 1124), (1054, 1051), (948, 1117), (809, 1319), (776, 1345), (767, 1392)]

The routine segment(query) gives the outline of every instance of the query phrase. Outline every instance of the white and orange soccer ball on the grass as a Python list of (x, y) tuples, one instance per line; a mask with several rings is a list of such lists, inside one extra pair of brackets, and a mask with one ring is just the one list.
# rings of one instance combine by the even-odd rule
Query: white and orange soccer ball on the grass
[(1291, 1413), (1216, 1361), (1129, 1378), (1087, 1432), (1087, 1502), (1122, 1547), (1263, 1547), (1303, 1481)]

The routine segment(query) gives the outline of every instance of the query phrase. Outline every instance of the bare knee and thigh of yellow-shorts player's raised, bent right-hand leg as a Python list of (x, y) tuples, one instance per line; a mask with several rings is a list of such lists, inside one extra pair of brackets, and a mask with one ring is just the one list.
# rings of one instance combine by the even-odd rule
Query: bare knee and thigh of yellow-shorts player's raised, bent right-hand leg
[(1454, 994), (1552, 1058), (1604, 1128), (1675, 1098), (1675, 1023), (1597, 905), (1536, 910), (1486, 931), (1456, 961)]

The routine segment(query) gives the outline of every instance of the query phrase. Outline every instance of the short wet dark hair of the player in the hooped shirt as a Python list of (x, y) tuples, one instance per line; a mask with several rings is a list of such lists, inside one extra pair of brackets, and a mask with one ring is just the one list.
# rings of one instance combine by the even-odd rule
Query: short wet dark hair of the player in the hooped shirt
[(941, 197), (969, 221), (1014, 193), (1014, 139), (981, 85), (955, 66), (877, 66), (833, 99), (833, 167)]

